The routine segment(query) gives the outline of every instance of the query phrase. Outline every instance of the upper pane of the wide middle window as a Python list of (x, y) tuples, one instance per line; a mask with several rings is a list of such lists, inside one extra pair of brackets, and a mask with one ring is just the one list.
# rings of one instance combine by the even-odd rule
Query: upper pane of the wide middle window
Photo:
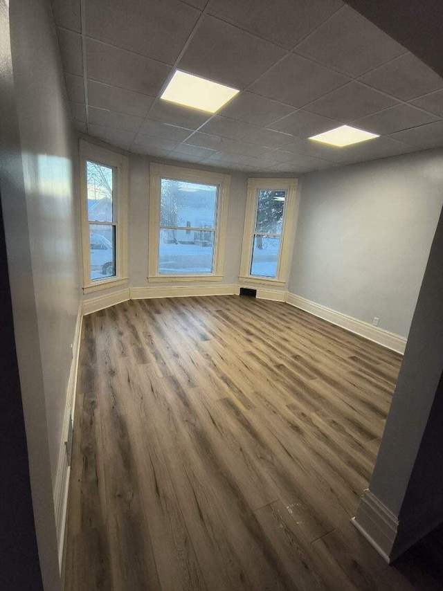
[(217, 186), (161, 179), (161, 226), (215, 228)]

